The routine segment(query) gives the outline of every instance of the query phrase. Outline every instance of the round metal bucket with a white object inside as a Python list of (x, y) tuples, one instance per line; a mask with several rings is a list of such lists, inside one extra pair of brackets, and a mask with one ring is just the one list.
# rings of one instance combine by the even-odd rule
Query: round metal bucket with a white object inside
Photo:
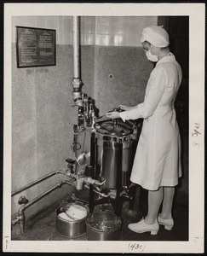
[(61, 212), (66, 212), (66, 210), (68, 210), (69, 207), (72, 206), (72, 204), (84, 207), (87, 210), (87, 216), (89, 214), (89, 207), (83, 205), (83, 203), (81, 202), (66, 203), (65, 205), (56, 209), (56, 231), (60, 236), (66, 236), (68, 238), (76, 238), (78, 236), (83, 236), (86, 232), (85, 219), (87, 218), (87, 216), (85, 218), (72, 221), (60, 218), (59, 214)]

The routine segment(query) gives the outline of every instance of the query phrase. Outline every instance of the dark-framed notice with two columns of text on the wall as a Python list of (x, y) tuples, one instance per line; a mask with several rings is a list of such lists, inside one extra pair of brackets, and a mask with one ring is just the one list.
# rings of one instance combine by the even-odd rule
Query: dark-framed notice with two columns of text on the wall
[(17, 67), (56, 65), (55, 30), (16, 26)]

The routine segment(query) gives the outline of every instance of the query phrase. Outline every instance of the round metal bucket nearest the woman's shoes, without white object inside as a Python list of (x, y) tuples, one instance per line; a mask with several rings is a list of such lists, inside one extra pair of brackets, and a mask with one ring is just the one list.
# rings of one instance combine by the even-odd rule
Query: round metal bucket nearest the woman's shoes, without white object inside
[(113, 212), (95, 212), (86, 218), (86, 236), (88, 241), (120, 240), (122, 219)]

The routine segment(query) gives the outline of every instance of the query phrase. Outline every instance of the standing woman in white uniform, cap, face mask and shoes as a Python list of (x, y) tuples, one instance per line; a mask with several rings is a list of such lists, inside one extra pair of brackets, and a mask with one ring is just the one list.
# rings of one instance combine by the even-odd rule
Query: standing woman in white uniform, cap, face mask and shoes
[[(147, 217), (129, 229), (156, 235), (159, 224), (171, 230), (172, 201), (181, 177), (181, 139), (174, 102), (181, 84), (181, 67), (170, 53), (169, 35), (162, 26), (148, 26), (141, 44), (149, 61), (157, 62), (147, 82), (144, 102), (135, 107), (120, 105), (124, 112), (106, 113), (112, 119), (144, 119), (130, 180), (148, 190)], [(162, 212), (158, 210), (163, 202)]]

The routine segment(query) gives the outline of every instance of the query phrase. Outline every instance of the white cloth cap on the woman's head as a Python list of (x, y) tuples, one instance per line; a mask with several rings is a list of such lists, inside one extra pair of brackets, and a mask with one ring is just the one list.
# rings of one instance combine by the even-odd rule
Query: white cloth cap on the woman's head
[(143, 29), (141, 43), (149, 42), (156, 47), (167, 47), (169, 42), (169, 34), (163, 26), (147, 26)]

